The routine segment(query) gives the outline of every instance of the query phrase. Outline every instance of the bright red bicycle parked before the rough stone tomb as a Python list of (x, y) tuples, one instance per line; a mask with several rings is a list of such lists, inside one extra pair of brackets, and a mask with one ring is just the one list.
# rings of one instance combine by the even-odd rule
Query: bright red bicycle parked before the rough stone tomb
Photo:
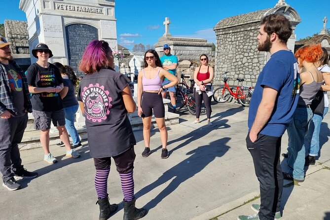
[(238, 83), (241, 83), (241, 85), (237, 85), (236, 87), (229, 87), (227, 83), (228, 79), (234, 78), (223, 77), (223, 86), (213, 91), (214, 101), (216, 101), (217, 103), (225, 103), (230, 102), (232, 99), (235, 99), (242, 106), (249, 107), (253, 94), (252, 88), (246, 85), (242, 85), (242, 82), (244, 81), (243, 78), (236, 78)]

